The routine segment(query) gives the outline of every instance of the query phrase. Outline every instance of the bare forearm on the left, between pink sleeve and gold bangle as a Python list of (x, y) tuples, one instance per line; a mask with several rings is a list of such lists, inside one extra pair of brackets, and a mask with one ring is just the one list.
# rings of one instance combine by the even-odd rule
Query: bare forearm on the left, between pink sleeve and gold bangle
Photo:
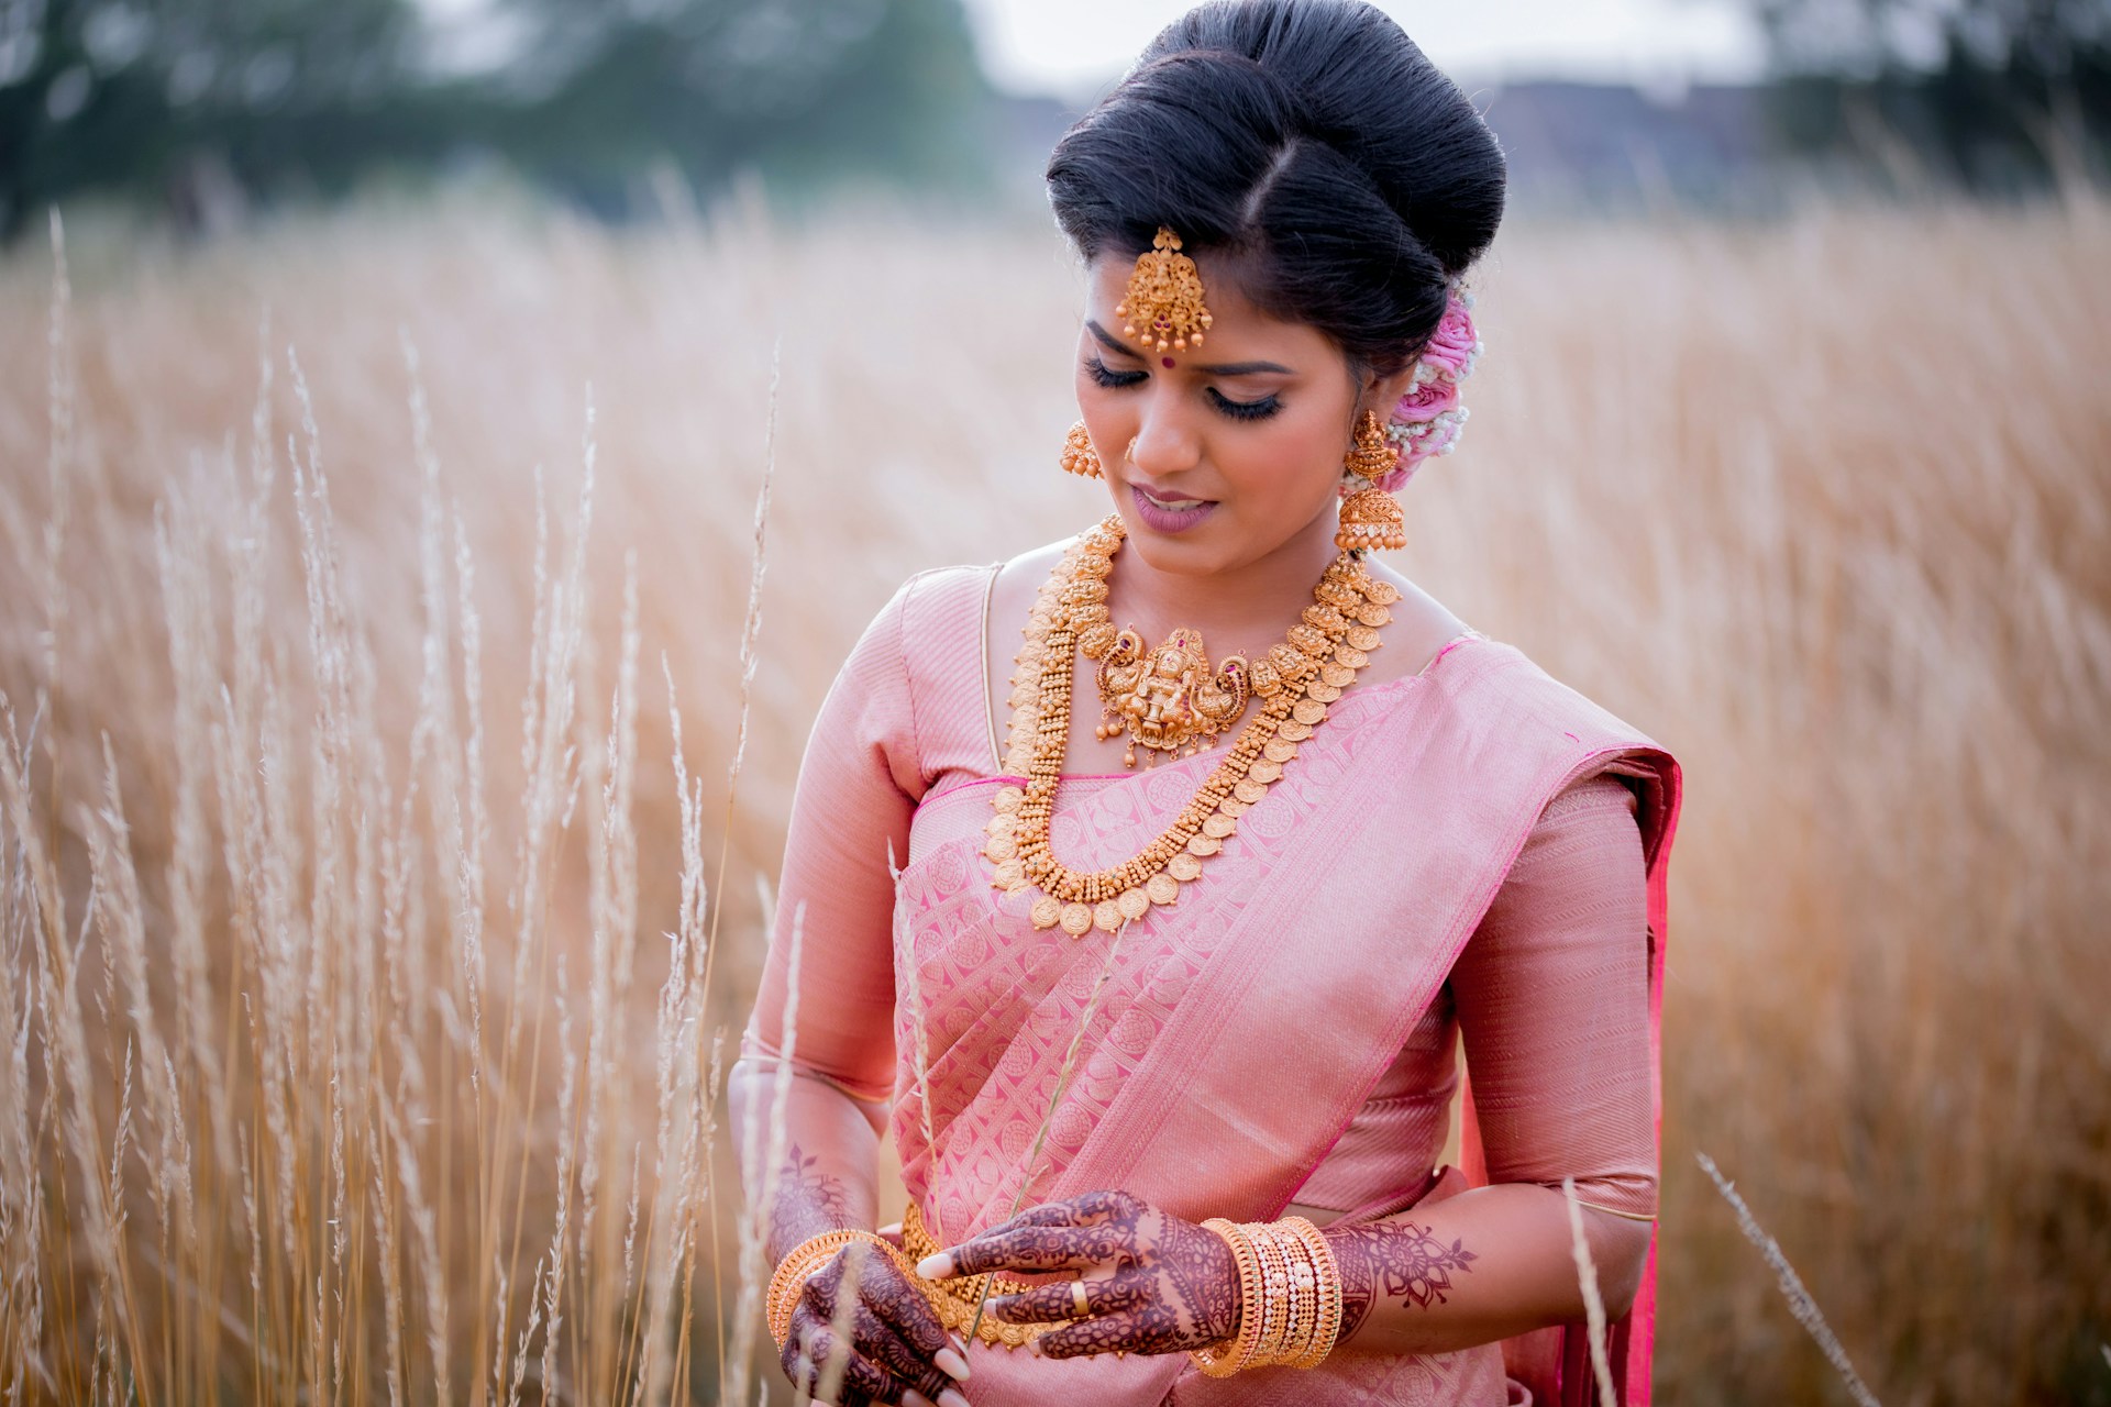
[[(735, 1137), (743, 1148), (741, 1177), (749, 1198), (775, 1183), (768, 1255), (781, 1259), (798, 1242), (840, 1228), (872, 1230), (878, 1221), (878, 1148), (887, 1105), (853, 1099), (828, 1080), (794, 1074), (783, 1105), (783, 1156), (762, 1167), (771, 1152), (777, 1101), (775, 1059), (735, 1061), (728, 1099)], [(749, 1148), (754, 1139), (754, 1148)]]

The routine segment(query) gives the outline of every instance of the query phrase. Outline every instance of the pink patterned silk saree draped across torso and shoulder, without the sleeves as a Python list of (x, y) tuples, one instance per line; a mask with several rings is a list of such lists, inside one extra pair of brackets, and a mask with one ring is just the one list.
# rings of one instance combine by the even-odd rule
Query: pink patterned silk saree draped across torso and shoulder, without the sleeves
[[(1214, 764), (1064, 778), (1056, 852), (1072, 867), (1136, 854)], [(990, 795), (1015, 778), (925, 795), (893, 964), (893, 1137), (925, 1221), (958, 1242), (1007, 1219), (1022, 1183), (1022, 1207), (1123, 1188), (1195, 1221), (1279, 1217), (1438, 996), (1541, 810), (1598, 772), (1638, 795), (1655, 1072), (1678, 768), (1509, 645), (1465, 637), (1421, 675), (1349, 690), (1178, 905), (1119, 939), (1034, 930), (1028, 897), (990, 888)], [(1469, 1131), (1469, 1164), (1473, 1150)], [(1389, 1215), (1423, 1192), (1351, 1215)], [(1613, 1335), (1623, 1403), (1649, 1396), (1653, 1310), (1651, 1274)], [(1587, 1401), (1577, 1346), (1554, 1339), (1507, 1346), (1511, 1371), (1539, 1403)], [(1336, 1352), (1315, 1371), (1229, 1380), (1199, 1375), (1184, 1354), (977, 1348), (969, 1390), (977, 1407), (1501, 1403), (1505, 1346)]]

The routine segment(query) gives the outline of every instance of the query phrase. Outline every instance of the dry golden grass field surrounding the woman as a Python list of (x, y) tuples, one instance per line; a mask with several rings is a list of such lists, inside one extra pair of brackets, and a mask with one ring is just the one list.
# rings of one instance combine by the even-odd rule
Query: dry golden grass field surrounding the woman
[[(901, 576), (1100, 513), (1064, 251), (65, 264), (0, 259), (0, 1403), (754, 1401), (800, 747)], [(1847, 1401), (1706, 1152), (1883, 1401), (2111, 1403), (2111, 211), (1518, 224), (1480, 291), (1397, 561), (1687, 768), (1661, 1401)]]

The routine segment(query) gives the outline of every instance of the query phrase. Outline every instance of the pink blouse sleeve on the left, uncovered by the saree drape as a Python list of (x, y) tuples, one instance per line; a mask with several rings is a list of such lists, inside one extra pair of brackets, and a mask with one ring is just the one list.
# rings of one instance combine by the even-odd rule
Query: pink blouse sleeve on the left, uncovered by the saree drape
[(908, 859), (923, 795), (901, 620), (916, 578), (866, 627), (836, 675), (798, 770), (783, 878), (743, 1057), (781, 1059), (792, 924), (800, 924), (792, 1061), (844, 1093), (893, 1091), (893, 901), (889, 859)]

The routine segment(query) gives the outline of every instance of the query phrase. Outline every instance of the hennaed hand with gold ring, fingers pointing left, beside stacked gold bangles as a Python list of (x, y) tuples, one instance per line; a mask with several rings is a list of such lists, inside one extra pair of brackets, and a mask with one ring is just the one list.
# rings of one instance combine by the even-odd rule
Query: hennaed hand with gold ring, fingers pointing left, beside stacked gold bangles
[(988, 1312), (1005, 1323), (1060, 1323), (1077, 1318), (1072, 1287), (1085, 1287), (1087, 1316), (1034, 1339), (1032, 1350), (1047, 1358), (1172, 1354), (1239, 1331), (1239, 1261), (1224, 1238), (1127, 1192), (1022, 1211), (916, 1266), (927, 1278), (986, 1270), (1081, 1272), (1079, 1280), (990, 1297)]

